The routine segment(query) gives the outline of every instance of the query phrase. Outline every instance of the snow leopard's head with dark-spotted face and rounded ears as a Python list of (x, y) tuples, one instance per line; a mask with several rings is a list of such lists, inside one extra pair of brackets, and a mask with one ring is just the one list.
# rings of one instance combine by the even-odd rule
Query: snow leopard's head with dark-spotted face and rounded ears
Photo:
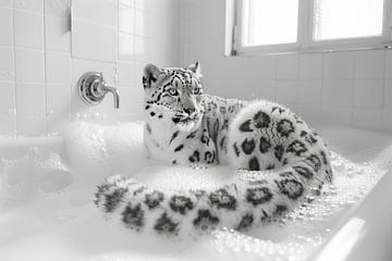
[(144, 69), (145, 111), (147, 121), (170, 120), (180, 130), (196, 129), (203, 117), (200, 65)]

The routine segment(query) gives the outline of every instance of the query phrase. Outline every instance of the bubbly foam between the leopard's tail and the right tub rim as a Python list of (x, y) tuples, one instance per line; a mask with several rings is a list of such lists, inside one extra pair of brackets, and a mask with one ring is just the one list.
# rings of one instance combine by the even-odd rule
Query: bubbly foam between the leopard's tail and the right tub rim
[(314, 189), (297, 209), (241, 234), (213, 232), (217, 251), (225, 260), (306, 260), (327, 238), (335, 223), (355, 207), (385, 173), (368, 162), (358, 164), (332, 152), (334, 183)]

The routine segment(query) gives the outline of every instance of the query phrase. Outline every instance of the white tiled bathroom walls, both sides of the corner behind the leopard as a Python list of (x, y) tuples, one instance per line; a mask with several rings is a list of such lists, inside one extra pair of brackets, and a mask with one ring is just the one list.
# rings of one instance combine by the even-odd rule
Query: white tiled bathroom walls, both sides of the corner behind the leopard
[[(142, 117), (142, 69), (200, 61), (208, 92), (266, 98), (309, 122), (392, 129), (392, 52), (225, 58), (225, 0), (0, 0), (0, 135), (46, 135), (73, 119)], [(87, 71), (119, 88), (98, 107), (78, 98)]]

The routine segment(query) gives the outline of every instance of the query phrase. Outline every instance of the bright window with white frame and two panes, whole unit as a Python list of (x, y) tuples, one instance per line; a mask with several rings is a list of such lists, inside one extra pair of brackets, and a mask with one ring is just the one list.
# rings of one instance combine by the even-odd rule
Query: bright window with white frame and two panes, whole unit
[(235, 53), (391, 48), (392, 0), (228, 1)]

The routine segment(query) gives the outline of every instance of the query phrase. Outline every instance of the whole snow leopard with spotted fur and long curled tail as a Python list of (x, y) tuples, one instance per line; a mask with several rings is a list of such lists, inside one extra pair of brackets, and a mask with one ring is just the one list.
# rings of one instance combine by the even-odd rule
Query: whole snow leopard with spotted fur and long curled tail
[(108, 178), (98, 186), (96, 203), (106, 213), (120, 213), (126, 227), (170, 235), (217, 226), (249, 229), (332, 181), (324, 142), (287, 108), (203, 94), (198, 63), (187, 69), (149, 64), (143, 85), (145, 142), (152, 158), (232, 164), (258, 175), (212, 190), (176, 192)]

